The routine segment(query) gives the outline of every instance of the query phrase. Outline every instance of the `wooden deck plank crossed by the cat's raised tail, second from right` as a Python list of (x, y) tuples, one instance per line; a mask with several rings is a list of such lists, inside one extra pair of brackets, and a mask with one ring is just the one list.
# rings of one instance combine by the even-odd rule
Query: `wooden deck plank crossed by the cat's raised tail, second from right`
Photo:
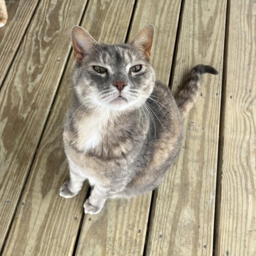
[(212, 254), (225, 14), (226, 1), (185, 1), (172, 91), (198, 63), (220, 74), (203, 76), (185, 118), (180, 155), (155, 193), (147, 255)]

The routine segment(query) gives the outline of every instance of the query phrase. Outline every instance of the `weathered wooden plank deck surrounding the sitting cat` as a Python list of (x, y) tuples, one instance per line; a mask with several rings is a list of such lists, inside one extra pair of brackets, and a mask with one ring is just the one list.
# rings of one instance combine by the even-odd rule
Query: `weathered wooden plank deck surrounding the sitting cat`
[[(14, 0), (0, 29), (0, 255), (256, 255), (256, 2)], [(157, 79), (175, 93), (204, 75), (182, 150), (162, 185), (85, 215), (68, 178), (63, 120), (73, 87), (70, 30), (129, 41), (147, 23)]]

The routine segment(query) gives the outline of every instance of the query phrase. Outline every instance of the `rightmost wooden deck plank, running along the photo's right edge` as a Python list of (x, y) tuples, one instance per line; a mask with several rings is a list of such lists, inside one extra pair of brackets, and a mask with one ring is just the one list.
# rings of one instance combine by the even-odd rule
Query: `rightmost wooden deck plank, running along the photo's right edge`
[(256, 2), (229, 1), (216, 255), (256, 255)]

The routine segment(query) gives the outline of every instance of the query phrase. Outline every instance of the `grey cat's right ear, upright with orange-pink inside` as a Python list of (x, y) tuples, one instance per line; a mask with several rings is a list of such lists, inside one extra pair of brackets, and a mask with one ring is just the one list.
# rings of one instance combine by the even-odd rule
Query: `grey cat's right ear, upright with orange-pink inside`
[(149, 24), (142, 28), (137, 35), (132, 39), (131, 44), (140, 48), (145, 52), (146, 59), (150, 58), (150, 51), (154, 40), (155, 28)]

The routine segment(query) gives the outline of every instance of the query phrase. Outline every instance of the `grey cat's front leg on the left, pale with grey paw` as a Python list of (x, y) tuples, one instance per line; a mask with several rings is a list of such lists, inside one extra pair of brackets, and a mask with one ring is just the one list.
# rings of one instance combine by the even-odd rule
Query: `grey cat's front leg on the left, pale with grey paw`
[(84, 180), (86, 179), (81, 167), (76, 165), (70, 157), (68, 158), (69, 163), (69, 175), (70, 179), (63, 183), (60, 188), (60, 196), (70, 198), (76, 196), (81, 190)]

